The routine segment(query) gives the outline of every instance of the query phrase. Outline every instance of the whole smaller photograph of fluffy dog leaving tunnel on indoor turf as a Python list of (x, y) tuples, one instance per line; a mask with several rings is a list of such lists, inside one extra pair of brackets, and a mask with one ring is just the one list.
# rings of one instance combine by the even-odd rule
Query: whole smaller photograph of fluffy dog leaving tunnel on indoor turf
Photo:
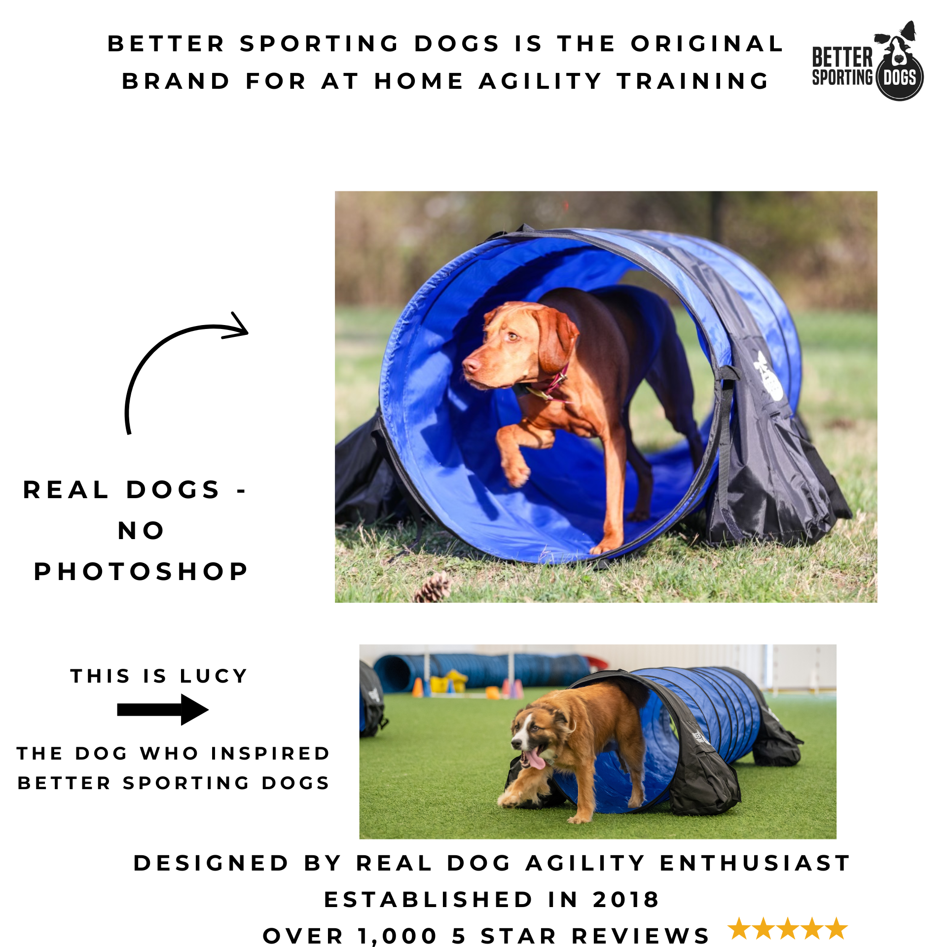
[(362, 838), (835, 838), (834, 645), (360, 659)]

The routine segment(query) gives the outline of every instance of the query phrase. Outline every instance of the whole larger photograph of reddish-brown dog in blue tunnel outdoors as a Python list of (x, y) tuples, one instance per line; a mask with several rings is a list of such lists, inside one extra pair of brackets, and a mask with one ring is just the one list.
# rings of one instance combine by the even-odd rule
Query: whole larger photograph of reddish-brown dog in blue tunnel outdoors
[(876, 601), (875, 192), (335, 206), (336, 601)]

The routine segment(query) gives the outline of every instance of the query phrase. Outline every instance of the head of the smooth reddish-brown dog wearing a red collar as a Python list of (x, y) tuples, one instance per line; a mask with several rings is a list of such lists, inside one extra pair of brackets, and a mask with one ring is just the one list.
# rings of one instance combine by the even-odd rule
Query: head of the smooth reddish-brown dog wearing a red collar
[(579, 330), (565, 314), (535, 302), (505, 302), (483, 318), (483, 345), (463, 361), (474, 388), (536, 383), (561, 371)]

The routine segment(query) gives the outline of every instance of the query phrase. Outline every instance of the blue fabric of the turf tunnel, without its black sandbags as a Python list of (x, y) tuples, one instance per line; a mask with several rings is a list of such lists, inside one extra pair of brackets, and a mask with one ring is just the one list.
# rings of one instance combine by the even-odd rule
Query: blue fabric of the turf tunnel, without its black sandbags
[[(710, 743), (725, 763), (732, 763), (753, 748), (759, 736), (760, 709), (753, 689), (740, 677), (723, 668), (646, 668), (634, 677), (649, 681), (676, 694), (693, 714), (700, 729), (699, 740)], [(599, 680), (601, 678), (599, 677)], [(595, 684), (588, 678), (579, 686)], [(645, 804), (651, 808), (670, 797), (671, 779), (677, 769), (680, 742), (668, 708), (652, 690), (641, 711), (645, 748)], [(696, 735), (692, 735), (696, 736)], [(572, 802), (578, 796), (576, 777), (557, 771), (556, 784)], [(596, 812), (629, 813), (632, 780), (621, 769), (615, 751), (599, 754), (595, 767)]]

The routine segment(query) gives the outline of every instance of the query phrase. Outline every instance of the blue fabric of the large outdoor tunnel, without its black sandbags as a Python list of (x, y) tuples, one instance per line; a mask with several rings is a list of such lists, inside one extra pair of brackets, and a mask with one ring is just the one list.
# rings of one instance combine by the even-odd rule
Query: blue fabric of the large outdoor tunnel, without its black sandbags
[[(384, 353), (379, 401), (399, 474), (444, 527), (500, 559), (563, 563), (593, 558), (605, 510), (605, 474), (596, 444), (560, 432), (551, 449), (530, 451), (531, 475), (509, 487), (494, 443), (518, 422), (509, 389), (475, 390), (461, 362), (481, 341), (483, 316), (509, 300), (538, 300), (557, 287), (591, 292), (629, 271), (657, 278), (693, 320), (707, 362), (731, 364), (730, 338), (718, 313), (721, 286), (739, 294), (769, 347), (772, 370), (795, 411), (802, 362), (792, 317), (756, 267), (723, 246), (651, 231), (516, 232), (486, 241), (431, 277), (411, 299)], [(696, 274), (696, 276), (695, 276)], [(721, 385), (715, 387), (715, 409)], [(724, 423), (728, 423), (725, 419)], [(700, 424), (700, 419), (698, 419)], [(708, 443), (715, 410), (701, 425)], [(626, 523), (628, 552), (651, 542), (696, 509), (716, 473), (705, 457), (695, 474), (686, 443), (649, 456), (654, 474), (651, 519)], [(626, 509), (637, 492), (627, 469)], [(609, 555), (616, 555), (617, 552)]]

